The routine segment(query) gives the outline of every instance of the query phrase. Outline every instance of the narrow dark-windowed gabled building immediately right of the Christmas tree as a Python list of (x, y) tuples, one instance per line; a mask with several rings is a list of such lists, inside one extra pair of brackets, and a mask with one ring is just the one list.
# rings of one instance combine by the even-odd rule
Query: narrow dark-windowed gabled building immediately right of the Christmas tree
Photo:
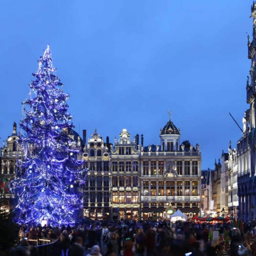
[[(83, 130), (83, 141), (86, 141), (86, 130)], [(110, 154), (108, 137), (107, 143), (95, 129), (88, 144), (83, 148), (84, 170), (87, 172), (86, 184), (83, 187), (84, 216), (95, 219), (109, 217), (110, 190)]]

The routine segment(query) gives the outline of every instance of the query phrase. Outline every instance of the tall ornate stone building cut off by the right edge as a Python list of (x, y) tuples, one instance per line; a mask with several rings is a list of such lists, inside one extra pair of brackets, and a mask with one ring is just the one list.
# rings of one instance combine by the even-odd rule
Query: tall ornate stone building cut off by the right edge
[(256, 3), (251, 7), (253, 18), (252, 40), (248, 36), (248, 59), (251, 60), (251, 69), (247, 76), (247, 103), (249, 108), (243, 117), (243, 136), (237, 143), (237, 187), (239, 200), (239, 220), (245, 222), (255, 219), (256, 206), (256, 133), (255, 133), (255, 107), (256, 107)]

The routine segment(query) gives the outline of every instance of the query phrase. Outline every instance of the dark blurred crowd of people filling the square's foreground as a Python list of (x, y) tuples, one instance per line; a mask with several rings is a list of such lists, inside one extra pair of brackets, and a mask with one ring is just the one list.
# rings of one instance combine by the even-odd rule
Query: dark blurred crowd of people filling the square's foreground
[(217, 230), (220, 234), (228, 233), (231, 241), (228, 255), (252, 254), (252, 248), (241, 231), (231, 227), (230, 223), (194, 221), (92, 221), (77, 227), (62, 225), (60, 228), (22, 225), (19, 231), (20, 245), (17, 248), (21, 252), (29, 251), (29, 242), (42, 238), (54, 242), (52, 255), (56, 256), (222, 255), (220, 239), (209, 236), (212, 230)]

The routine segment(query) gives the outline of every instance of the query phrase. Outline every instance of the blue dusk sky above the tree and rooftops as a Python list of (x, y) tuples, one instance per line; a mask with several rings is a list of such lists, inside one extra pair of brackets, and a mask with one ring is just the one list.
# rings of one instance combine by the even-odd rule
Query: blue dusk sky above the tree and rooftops
[[(2, 0), (0, 141), (21, 119), (32, 72), (50, 44), (75, 130), (111, 142), (127, 129), (160, 144), (169, 119), (214, 168), (236, 148), (246, 103), (253, 1)], [(252, 36), (251, 36), (252, 38)]]

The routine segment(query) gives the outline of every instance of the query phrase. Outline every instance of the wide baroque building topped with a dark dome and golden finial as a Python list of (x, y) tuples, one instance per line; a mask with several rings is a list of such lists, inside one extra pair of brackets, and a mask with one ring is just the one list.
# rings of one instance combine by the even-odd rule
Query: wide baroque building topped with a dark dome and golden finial
[(168, 209), (200, 214), (201, 154), (170, 120), (160, 130), (160, 145), (141, 147), (142, 217), (168, 217)]

